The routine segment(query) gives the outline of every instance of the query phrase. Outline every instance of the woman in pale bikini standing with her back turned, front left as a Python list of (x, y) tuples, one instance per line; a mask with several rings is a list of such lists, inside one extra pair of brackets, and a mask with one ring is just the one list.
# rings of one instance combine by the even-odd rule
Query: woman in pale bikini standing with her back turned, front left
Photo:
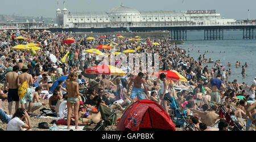
[(79, 93), (79, 84), (76, 82), (77, 75), (75, 72), (71, 72), (71, 74), (68, 75), (68, 79), (65, 81), (66, 89), (68, 92), (68, 100), (67, 100), (67, 107), (68, 107), (68, 130), (69, 125), (71, 122), (71, 114), (72, 114), (72, 108), (74, 107), (74, 115), (75, 115), (75, 124), (76, 129), (79, 121), (78, 111), (79, 111), (79, 96), (82, 96), (81, 93)]

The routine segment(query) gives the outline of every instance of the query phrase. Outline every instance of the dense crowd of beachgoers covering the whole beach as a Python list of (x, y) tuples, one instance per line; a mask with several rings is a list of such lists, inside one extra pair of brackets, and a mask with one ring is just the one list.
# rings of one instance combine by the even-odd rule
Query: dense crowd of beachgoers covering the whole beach
[[(31, 40), (15, 39), (18, 36)], [(63, 40), (67, 38), (73, 38), (75, 42), (64, 44)], [(8, 123), (6, 130), (32, 130), (30, 117), (36, 115), (36, 110), (46, 107), (42, 100), (47, 98), (49, 109), (56, 111), (59, 117), (67, 118), (68, 129), (71, 122), (75, 123), (76, 128), (78, 124), (100, 122), (100, 105), (123, 112), (127, 106), (141, 99), (156, 102), (174, 118), (170, 102), (175, 99), (177, 109), (184, 112), (185, 122), (180, 126), (183, 130), (224, 131), (228, 127), (241, 129), (244, 124), (239, 121), (240, 118), (246, 119), (246, 130), (250, 130), (256, 116), (256, 78), (247, 91), (247, 84), (228, 79), (231, 71), (225, 71), (220, 60), (205, 60), (205, 55), (195, 59), (186, 50), (175, 45), (171, 38), (129, 39), (105, 35), (103, 38), (97, 36), (94, 40), (86, 40), (86, 35), (68, 32), (0, 31), (0, 98), (1, 101), (6, 100), (9, 103), (8, 110), (3, 110), (0, 104), (0, 117), (2, 122)], [(36, 54), (31, 50), (13, 49), (15, 45), (26, 45), (30, 42), (40, 46), (41, 49)], [(114, 49), (120, 52), (133, 49), (139, 54), (159, 54), (159, 64), (156, 64), (159, 71), (179, 72), (187, 81), (170, 81), (165, 74), (160, 74), (157, 79), (151, 78), (152, 74), (142, 73), (142, 64), (135, 64), (139, 66), (139, 72), (128, 72), (125, 76), (88, 77), (86, 69), (104, 63), (104, 58), (84, 51), (110, 42), (117, 43)], [(158, 42), (159, 45), (153, 45), (152, 42)], [(138, 46), (141, 48), (137, 50)], [(105, 54), (110, 52), (109, 49), (100, 50)], [(68, 62), (61, 62), (67, 53)], [(56, 57), (56, 61), (51, 58), (52, 55)], [(207, 61), (212, 62), (212, 68), (203, 68)], [(155, 65), (154, 62), (152, 65)], [(244, 71), (242, 75), (243, 73)], [(58, 80), (66, 75), (66, 80)], [(57, 86), (51, 92), (56, 81)], [(25, 88), (21, 93), (23, 97), (20, 97), (21, 86)], [(43, 92), (51, 94), (47, 96)], [(12, 112), (13, 102), (15, 112)], [(220, 111), (229, 115), (235, 125), (230, 127), (228, 118), (222, 117)], [(10, 118), (7, 114), (13, 117)]]

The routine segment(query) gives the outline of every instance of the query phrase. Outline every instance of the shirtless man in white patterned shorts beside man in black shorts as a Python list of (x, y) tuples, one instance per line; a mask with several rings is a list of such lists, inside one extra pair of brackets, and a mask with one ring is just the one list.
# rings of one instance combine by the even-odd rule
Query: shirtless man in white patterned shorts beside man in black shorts
[(22, 85), (24, 81), (27, 80), (27, 91), (23, 98), (20, 99), (20, 104), (22, 105), (23, 109), (26, 109), (25, 104), (28, 102), (28, 114), (31, 115), (32, 111), (32, 101), (33, 101), (33, 94), (31, 90), (31, 86), (33, 85), (33, 78), (32, 75), (28, 74), (28, 67), (26, 64), (22, 66), (22, 74), (18, 76), (17, 79), (17, 86)]

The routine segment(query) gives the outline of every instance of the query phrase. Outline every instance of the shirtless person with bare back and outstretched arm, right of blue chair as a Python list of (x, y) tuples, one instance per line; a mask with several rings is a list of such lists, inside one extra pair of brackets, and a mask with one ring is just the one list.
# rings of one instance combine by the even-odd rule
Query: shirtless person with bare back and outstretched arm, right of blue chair
[(191, 109), (193, 112), (199, 114), (201, 122), (207, 124), (208, 127), (213, 127), (217, 119), (219, 119), (219, 115), (216, 114), (217, 107), (210, 107), (210, 111), (201, 111), (197, 109)]

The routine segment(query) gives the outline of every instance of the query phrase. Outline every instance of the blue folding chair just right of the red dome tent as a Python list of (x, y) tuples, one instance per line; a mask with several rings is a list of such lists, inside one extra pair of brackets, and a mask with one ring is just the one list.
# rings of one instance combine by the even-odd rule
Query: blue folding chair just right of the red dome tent
[[(172, 111), (172, 121), (176, 124), (176, 126), (183, 126), (183, 124), (187, 123), (187, 110), (184, 110), (183, 112), (178, 109), (177, 101), (174, 97), (171, 98), (171, 100), (168, 100), (170, 103), (170, 107), (173, 110)], [(175, 115), (175, 116), (174, 116)]]

